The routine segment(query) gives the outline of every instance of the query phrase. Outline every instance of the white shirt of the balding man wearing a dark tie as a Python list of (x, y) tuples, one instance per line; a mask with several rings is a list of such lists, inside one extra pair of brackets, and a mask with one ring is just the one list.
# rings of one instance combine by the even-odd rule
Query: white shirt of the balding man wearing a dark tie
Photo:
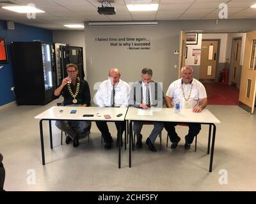
[[(95, 103), (99, 107), (111, 106), (111, 94), (113, 91), (113, 85), (111, 79), (105, 80), (99, 86), (97, 93), (95, 94)], [(130, 86), (123, 80), (119, 80), (115, 85), (115, 106), (127, 107), (129, 100)]]

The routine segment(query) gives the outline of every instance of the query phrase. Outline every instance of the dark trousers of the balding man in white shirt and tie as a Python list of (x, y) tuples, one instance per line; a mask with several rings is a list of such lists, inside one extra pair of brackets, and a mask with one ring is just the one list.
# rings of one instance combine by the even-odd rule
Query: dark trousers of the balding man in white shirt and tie
[[(109, 129), (108, 129), (108, 124), (105, 121), (96, 121), (96, 125), (100, 130), (100, 133), (104, 139), (104, 142), (106, 143), (112, 143), (113, 142), (113, 138), (111, 136), (111, 134), (109, 133)], [(116, 125), (116, 130), (117, 130), (117, 139), (119, 138), (118, 136), (120, 135), (120, 128), (121, 128), (121, 140), (122, 140), (122, 136), (124, 133), (124, 129), (125, 129), (125, 122), (124, 121), (120, 121), (120, 122), (115, 122)]]

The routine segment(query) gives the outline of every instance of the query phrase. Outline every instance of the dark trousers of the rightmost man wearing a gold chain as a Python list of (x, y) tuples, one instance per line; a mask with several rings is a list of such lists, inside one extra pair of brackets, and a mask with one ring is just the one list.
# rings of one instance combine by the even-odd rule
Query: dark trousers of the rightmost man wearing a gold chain
[[(179, 136), (175, 131), (175, 126), (178, 122), (164, 122), (164, 128), (168, 132), (171, 142), (179, 142)], [(198, 123), (186, 123), (189, 127), (188, 135), (185, 136), (186, 143), (191, 144), (194, 137), (198, 135), (201, 130), (201, 124)]]

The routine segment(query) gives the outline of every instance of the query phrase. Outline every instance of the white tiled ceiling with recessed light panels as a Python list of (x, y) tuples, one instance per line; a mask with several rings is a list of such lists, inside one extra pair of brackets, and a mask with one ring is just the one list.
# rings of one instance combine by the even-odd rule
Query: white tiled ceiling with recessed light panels
[[(7, 1), (7, 0), (0, 0)], [(138, 1), (138, 0), (133, 0)], [(144, 0), (145, 1), (145, 0)], [(100, 0), (19, 0), (17, 4), (35, 4), (45, 13), (27, 18), (25, 13), (15, 13), (0, 8), (1, 20), (47, 29), (68, 29), (64, 24), (83, 24), (84, 21), (131, 21), (131, 20), (195, 20), (217, 19), (220, 3), (228, 6), (228, 18), (256, 18), (256, 9), (250, 8), (256, 0), (153, 0), (159, 3), (157, 11), (128, 11), (125, 4), (132, 0), (111, 0), (116, 15), (99, 15)]]

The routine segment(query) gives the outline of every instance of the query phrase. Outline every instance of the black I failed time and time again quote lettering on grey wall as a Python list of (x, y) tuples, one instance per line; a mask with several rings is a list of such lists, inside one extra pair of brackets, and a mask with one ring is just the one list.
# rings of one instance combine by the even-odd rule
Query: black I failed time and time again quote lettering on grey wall
[(150, 50), (151, 41), (148, 38), (114, 38), (114, 37), (98, 37), (95, 41), (108, 43), (110, 47), (122, 47), (127, 50)]

